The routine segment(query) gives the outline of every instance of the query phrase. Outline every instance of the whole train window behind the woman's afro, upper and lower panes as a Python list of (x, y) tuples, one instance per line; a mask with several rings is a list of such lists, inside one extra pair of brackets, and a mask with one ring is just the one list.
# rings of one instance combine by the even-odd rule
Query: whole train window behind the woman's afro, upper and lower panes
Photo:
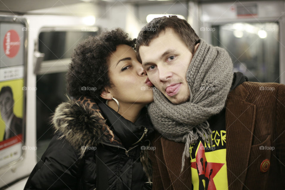
[(44, 29), (39, 34), (38, 51), (45, 56), (37, 71), (37, 159), (46, 150), (53, 128), (51, 116), (56, 107), (67, 101), (65, 74), (71, 53), (88, 36), (96, 36), (98, 29)]

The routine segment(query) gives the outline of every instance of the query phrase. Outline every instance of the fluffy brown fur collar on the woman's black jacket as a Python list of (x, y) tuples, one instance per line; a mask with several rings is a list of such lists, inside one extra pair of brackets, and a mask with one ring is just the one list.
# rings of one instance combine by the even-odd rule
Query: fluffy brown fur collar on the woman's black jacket
[(122, 146), (105, 122), (98, 105), (88, 97), (61, 103), (52, 117), (55, 133), (65, 137), (80, 157), (85, 153), (83, 146), (96, 146), (100, 142)]

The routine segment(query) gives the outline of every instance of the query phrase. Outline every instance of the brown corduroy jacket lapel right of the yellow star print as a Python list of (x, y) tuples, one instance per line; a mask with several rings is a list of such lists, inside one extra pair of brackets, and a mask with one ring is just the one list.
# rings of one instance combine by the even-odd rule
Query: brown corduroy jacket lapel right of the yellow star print
[(248, 91), (239, 85), (226, 102), (226, 161), (229, 190), (242, 189), (248, 168), (256, 106), (246, 102)]

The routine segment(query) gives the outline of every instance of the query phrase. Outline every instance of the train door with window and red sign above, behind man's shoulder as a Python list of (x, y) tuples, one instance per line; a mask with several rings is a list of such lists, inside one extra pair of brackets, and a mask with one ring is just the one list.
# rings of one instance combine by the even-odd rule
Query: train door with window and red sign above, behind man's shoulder
[(285, 83), (284, 1), (200, 4), (200, 37), (225, 48), (251, 82)]

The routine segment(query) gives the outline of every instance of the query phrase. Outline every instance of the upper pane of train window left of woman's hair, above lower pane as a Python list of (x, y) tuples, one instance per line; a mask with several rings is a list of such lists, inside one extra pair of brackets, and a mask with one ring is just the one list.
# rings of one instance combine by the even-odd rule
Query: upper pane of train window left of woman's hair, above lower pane
[(96, 36), (98, 27), (53, 28), (41, 29), (38, 50), (44, 54), (40, 66), (35, 66), (36, 74), (65, 72), (75, 46), (88, 36)]

